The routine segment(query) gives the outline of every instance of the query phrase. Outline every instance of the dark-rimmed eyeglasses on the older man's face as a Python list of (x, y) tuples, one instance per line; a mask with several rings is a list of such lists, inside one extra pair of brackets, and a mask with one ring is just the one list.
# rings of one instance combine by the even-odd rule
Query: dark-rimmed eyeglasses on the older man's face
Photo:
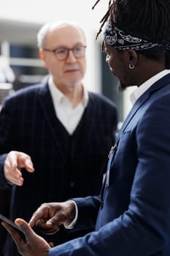
[(58, 61), (63, 61), (68, 58), (70, 50), (72, 50), (72, 53), (74, 54), (74, 57), (76, 59), (82, 58), (85, 55), (85, 48), (86, 48), (85, 45), (80, 45), (80, 46), (75, 46), (74, 48), (57, 48), (54, 50), (50, 50), (50, 49), (43, 49), (43, 50), (54, 53)]

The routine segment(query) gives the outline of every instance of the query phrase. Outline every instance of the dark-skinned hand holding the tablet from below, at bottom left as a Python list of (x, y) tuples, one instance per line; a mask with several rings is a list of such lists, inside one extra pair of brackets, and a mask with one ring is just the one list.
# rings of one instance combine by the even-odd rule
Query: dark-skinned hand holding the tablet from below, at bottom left
[(50, 245), (41, 236), (36, 235), (34, 230), (31, 229), (30, 225), (23, 219), (15, 219), (15, 224), (23, 232), (25, 238), (20, 235), (20, 232), (7, 224), (2, 222), (2, 225), (11, 234), (15, 244), (18, 247), (18, 252), (23, 256), (47, 256), (50, 250)]

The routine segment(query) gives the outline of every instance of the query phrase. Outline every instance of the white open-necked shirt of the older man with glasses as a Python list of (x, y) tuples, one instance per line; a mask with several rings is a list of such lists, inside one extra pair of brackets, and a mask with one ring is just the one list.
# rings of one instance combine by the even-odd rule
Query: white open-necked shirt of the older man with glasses
[(61, 121), (61, 124), (63, 124), (63, 127), (66, 128), (67, 132), (69, 132), (69, 135), (72, 135), (82, 118), (85, 107), (88, 105), (88, 91), (83, 87), (82, 102), (73, 108), (69, 99), (55, 86), (51, 76), (48, 80), (48, 85), (56, 116)]

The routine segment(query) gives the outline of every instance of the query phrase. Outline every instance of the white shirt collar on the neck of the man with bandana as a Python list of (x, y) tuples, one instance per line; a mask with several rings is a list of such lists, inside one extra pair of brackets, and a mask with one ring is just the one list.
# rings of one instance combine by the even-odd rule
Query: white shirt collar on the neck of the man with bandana
[(161, 72), (158, 72), (158, 74), (152, 76), (152, 78), (148, 79), (146, 82), (142, 83), (141, 86), (139, 86), (137, 89), (135, 89), (132, 94), (130, 94), (130, 100), (131, 103), (134, 105), (137, 99), (144, 94), (147, 89), (152, 86), (153, 83), (157, 82), (159, 79), (163, 78), (164, 75), (167, 75), (170, 73), (170, 69), (165, 69)]

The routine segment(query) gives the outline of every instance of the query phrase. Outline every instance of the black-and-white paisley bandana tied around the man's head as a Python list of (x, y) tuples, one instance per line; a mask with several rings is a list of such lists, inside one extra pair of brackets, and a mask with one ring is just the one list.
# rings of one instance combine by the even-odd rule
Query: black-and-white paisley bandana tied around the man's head
[(165, 47), (170, 50), (169, 45), (166, 46), (163, 43), (147, 42), (139, 37), (132, 37), (130, 34), (126, 34), (124, 31), (118, 29), (116, 26), (112, 30), (112, 25), (109, 20), (106, 29), (104, 31), (104, 41), (107, 45), (111, 45), (119, 50), (146, 50), (150, 48)]

